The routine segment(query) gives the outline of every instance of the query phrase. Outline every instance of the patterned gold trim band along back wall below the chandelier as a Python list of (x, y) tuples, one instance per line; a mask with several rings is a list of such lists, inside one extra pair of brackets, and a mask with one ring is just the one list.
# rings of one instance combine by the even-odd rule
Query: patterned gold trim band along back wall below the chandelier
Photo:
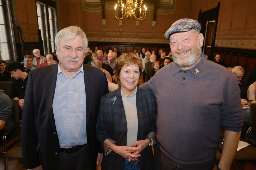
[(111, 37), (88, 37), (89, 42), (118, 42), (118, 43), (156, 43), (168, 44), (165, 39), (146, 39), (146, 38), (111, 38)]

